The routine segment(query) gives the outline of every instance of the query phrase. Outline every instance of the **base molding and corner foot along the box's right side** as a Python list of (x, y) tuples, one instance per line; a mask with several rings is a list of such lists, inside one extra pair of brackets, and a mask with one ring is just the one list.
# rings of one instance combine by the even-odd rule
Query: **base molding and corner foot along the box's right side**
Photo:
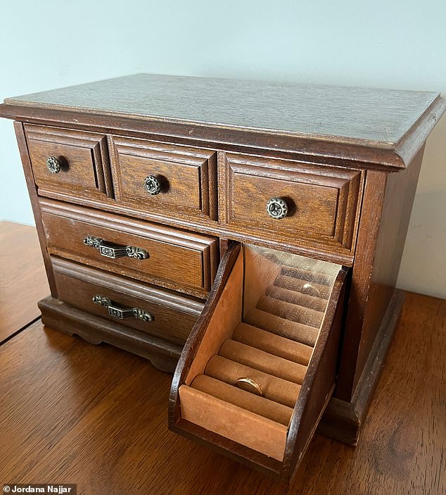
[(345, 402), (333, 397), (322, 416), (317, 433), (343, 444), (357, 445), (393, 334), (400, 321), (403, 303), (404, 291), (395, 289), (352, 401)]

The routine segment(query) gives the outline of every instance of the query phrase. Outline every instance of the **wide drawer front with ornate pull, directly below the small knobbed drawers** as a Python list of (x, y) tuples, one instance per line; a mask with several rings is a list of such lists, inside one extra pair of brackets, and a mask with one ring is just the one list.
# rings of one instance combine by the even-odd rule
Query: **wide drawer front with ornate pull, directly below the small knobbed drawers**
[(217, 269), (214, 237), (41, 200), (50, 254), (206, 297)]

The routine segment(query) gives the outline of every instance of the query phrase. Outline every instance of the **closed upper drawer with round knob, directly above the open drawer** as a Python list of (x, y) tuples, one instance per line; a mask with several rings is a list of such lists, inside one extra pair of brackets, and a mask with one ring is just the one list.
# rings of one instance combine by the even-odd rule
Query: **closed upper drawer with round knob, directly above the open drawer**
[(350, 251), (362, 173), (226, 153), (220, 163), (220, 223), (290, 244)]

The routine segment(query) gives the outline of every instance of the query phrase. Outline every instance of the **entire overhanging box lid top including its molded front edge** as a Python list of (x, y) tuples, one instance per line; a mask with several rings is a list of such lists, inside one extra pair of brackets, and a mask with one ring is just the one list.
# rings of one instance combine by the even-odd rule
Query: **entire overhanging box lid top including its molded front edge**
[(324, 162), (340, 159), (341, 166), (349, 158), (367, 168), (398, 170), (406, 168), (445, 109), (445, 100), (428, 92), (139, 74), (6, 99), (0, 115), (135, 137), (150, 133), (146, 137), (228, 151), (254, 146), (274, 156), (307, 153)]

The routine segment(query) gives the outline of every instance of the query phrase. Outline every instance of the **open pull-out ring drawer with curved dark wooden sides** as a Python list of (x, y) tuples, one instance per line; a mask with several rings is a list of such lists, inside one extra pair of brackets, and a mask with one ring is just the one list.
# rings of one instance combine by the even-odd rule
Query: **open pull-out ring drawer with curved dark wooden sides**
[(345, 275), (233, 244), (181, 353), (170, 429), (291, 480), (333, 393)]

